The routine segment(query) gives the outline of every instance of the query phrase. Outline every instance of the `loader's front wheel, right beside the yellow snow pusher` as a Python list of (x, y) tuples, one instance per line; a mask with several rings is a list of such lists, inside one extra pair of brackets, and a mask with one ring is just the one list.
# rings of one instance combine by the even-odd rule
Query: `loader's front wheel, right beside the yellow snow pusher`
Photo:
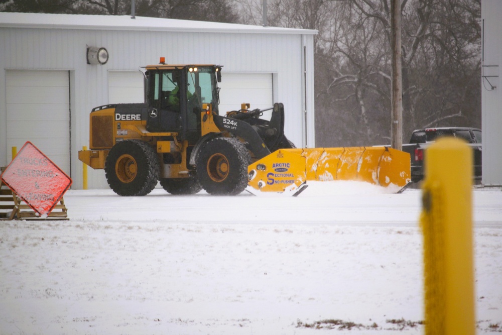
[(199, 182), (209, 194), (239, 194), (247, 185), (247, 166), (250, 161), (249, 152), (237, 139), (212, 139), (197, 154)]

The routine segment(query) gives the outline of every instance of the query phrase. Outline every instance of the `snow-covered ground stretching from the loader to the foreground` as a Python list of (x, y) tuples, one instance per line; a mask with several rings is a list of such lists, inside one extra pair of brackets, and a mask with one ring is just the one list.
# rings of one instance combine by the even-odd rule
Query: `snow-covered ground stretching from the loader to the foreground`
[[(0, 334), (420, 334), (420, 199), (70, 190), (68, 221), (0, 221)], [(477, 332), (502, 331), (502, 191), (473, 200)]]

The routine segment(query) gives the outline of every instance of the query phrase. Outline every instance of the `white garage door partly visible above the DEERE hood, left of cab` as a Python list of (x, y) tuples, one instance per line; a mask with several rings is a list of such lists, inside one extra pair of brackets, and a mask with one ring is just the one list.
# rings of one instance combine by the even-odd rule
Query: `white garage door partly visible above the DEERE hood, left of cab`
[(143, 74), (140, 71), (108, 72), (108, 103), (143, 102)]

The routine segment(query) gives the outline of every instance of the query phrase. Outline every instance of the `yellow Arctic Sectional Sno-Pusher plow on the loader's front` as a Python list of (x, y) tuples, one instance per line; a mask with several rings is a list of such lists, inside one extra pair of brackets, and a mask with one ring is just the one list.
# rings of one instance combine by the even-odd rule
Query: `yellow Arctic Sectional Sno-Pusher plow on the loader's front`
[(308, 180), (357, 180), (400, 191), (411, 180), (410, 155), (389, 147), (281, 149), (248, 167), (248, 186), (262, 192), (296, 195)]

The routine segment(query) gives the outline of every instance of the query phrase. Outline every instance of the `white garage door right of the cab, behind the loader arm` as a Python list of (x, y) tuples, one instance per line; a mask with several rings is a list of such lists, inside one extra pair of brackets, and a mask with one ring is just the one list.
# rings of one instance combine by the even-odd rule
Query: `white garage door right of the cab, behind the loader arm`
[[(273, 105), (272, 73), (221, 73), (219, 114), (240, 109), (248, 102), (251, 108), (265, 109)], [(272, 112), (264, 113), (270, 120)]]

